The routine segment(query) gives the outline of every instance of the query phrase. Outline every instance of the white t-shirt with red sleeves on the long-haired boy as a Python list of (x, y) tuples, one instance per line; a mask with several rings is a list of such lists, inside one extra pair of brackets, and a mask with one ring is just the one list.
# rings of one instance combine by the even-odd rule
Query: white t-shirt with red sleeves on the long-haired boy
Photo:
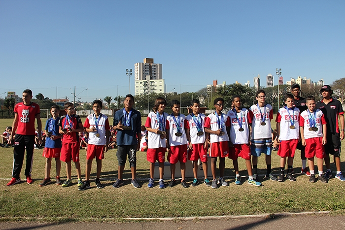
[[(167, 120), (167, 117), (169, 116), (168, 113), (163, 113), (165, 120)], [(150, 112), (147, 116), (146, 123), (145, 123), (146, 128), (151, 128), (151, 129), (158, 129), (159, 128), (159, 123), (157, 121), (157, 115), (155, 112)], [(147, 139), (148, 139), (148, 148), (150, 149), (157, 149), (157, 148), (166, 148), (167, 143), (166, 139), (162, 139), (160, 134), (156, 134), (154, 132), (147, 132)]]

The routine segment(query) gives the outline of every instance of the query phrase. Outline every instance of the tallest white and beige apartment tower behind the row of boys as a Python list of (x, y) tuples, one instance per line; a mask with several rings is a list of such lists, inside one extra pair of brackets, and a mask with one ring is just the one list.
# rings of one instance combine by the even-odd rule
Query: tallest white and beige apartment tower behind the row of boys
[(153, 58), (145, 58), (143, 63), (134, 64), (135, 95), (164, 93), (162, 64), (153, 63)]

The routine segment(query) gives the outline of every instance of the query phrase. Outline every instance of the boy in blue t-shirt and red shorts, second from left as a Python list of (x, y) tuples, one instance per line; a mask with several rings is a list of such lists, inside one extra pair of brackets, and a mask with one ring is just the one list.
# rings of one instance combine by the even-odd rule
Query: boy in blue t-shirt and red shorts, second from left
[(45, 125), (45, 134), (47, 136), (45, 147), (43, 150), (43, 157), (45, 157), (45, 177), (43, 181), (39, 184), (39, 186), (45, 186), (51, 183), (50, 180), (50, 169), (52, 166), (52, 158), (55, 158), (56, 164), (56, 185), (61, 185), (60, 180), (60, 169), (61, 169), (61, 161), (60, 161), (60, 152), (61, 152), (61, 137), (62, 135), (59, 133), (59, 126), (58, 123), (60, 121), (59, 113), (60, 108), (58, 105), (53, 105), (50, 108), (50, 113), (52, 114), (52, 118), (47, 120)]

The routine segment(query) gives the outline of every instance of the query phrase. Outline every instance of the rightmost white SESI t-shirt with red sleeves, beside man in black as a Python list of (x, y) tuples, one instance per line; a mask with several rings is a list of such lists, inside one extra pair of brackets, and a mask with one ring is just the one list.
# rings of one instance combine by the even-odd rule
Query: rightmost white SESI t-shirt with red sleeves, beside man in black
[(323, 115), (322, 111), (319, 109), (316, 109), (315, 112), (315, 127), (317, 128), (317, 131), (310, 131), (310, 122), (309, 122), (309, 116), (308, 116), (308, 109), (303, 111), (300, 115), (300, 126), (304, 127), (304, 138), (313, 138), (313, 137), (323, 137), (322, 132), (322, 125), (327, 124), (325, 116)]

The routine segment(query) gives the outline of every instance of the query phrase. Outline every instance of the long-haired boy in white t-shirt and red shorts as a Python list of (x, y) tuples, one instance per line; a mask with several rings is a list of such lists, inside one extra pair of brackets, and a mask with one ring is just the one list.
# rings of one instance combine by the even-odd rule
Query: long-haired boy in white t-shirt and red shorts
[(159, 188), (164, 189), (164, 159), (167, 149), (166, 144), (166, 119), (168, 113), (164, 112), (167, 106), (167, 101), (164, 98), (157, 98), (153, 112), (147, 116), (145, 123), (146, 130), (148, 131), (148, 149), (146, 159), (150, 163), (150, 178), (148, 179), (147, 187), (152, 188), (154, 185), (153, 175), (155, 170), (155, 162), (159, 163)]

